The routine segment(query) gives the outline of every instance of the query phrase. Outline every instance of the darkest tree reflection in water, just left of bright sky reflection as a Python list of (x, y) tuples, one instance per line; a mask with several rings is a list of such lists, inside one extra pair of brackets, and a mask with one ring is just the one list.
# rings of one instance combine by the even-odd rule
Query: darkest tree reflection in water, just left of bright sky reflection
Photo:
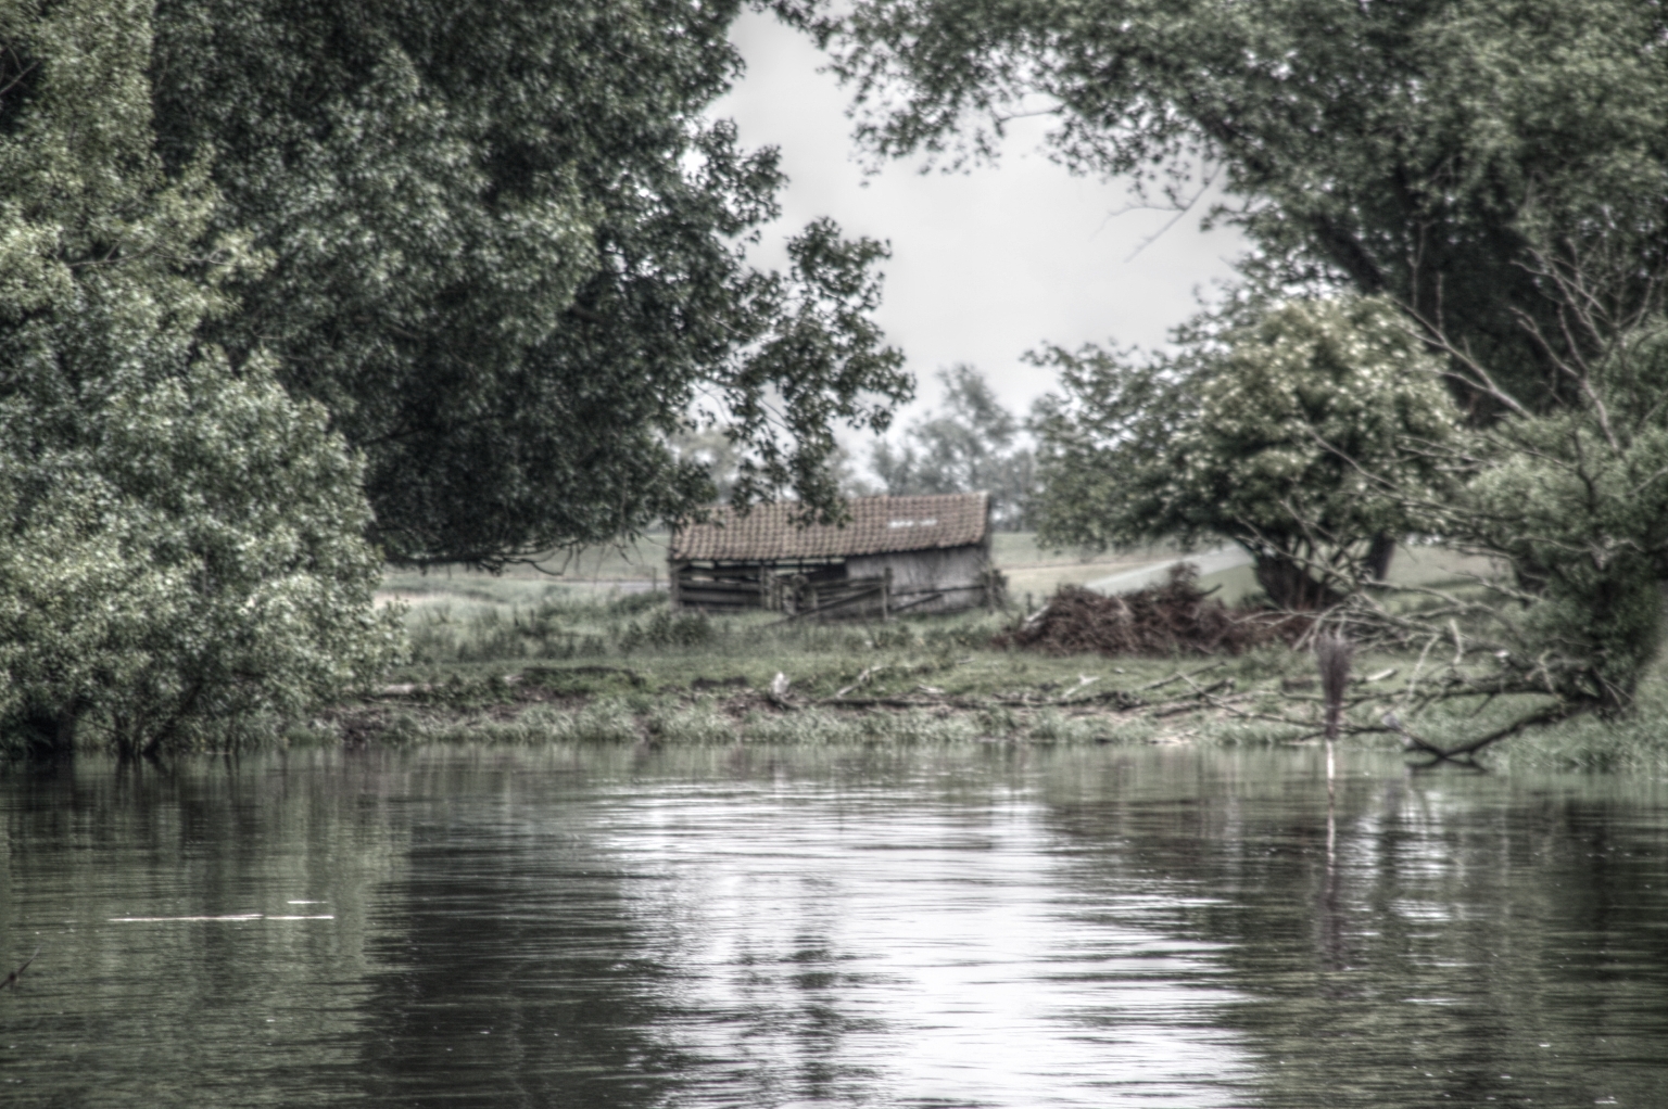
[(550, 824), (524, 827), (472, 824), (444, 800), (414, 814), (409, 871), (369, 946), (374, 1102), (651, 1106), (686, 1062), (652, 1037), (676, 977), (622, 957), (644, 947), (626, 887), (654, 877), (544, 810)]

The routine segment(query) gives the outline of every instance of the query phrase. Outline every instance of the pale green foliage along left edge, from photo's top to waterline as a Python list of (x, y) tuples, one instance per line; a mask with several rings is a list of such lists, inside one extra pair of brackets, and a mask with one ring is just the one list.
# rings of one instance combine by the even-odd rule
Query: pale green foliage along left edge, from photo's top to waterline
[(198, 327), (247, 265), (150, 148), (143, 3), (0, 5), (0, 720), (225, 735), (392, 655), (360, 465)]

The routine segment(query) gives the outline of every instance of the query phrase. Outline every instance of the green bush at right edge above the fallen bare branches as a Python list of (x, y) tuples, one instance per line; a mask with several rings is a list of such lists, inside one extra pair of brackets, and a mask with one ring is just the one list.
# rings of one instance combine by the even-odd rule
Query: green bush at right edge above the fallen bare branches
[(1588, 365), (1578, 402), (1468, 444), (1475, 477), (1441, 527), (1510, 562), (1500, 667), (1571, 705), (1626, 710), (1661, 645), (1668, 577), (1668, 329)]

